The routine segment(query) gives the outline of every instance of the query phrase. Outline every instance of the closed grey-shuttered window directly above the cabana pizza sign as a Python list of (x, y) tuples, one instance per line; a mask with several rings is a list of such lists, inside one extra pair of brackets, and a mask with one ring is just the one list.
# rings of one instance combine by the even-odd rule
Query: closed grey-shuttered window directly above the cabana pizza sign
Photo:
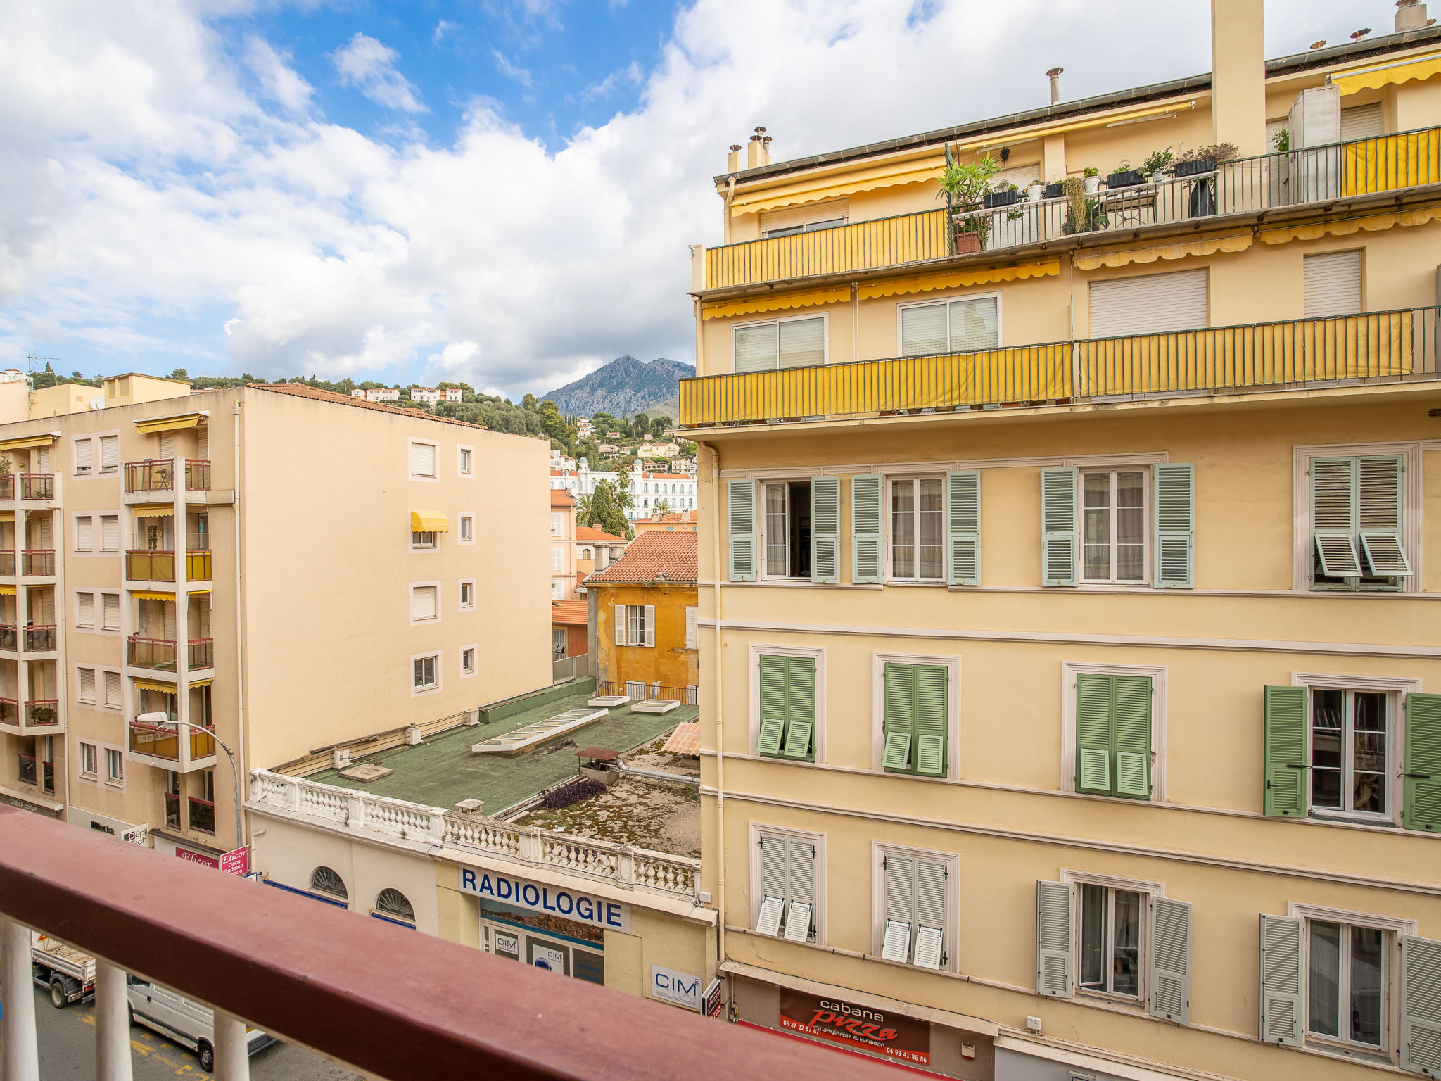
[(878, 849), (879, 953), (888, 961), (948, 969), (951, 863), (954, 856)]

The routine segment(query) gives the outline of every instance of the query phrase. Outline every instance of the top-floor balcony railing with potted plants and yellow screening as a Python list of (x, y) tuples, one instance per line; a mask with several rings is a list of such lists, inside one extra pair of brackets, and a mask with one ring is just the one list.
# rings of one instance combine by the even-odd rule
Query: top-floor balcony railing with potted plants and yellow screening
[[(1189, 174), (1177, 176), (1176, 173)], [(1130, 177), (1128, 177), (1130, 179)], [(1441, 128), (1200, 163), (1066, 197), (921, 210), (706, 251), (706, 288), (929, 262), (1076, 233), (1333, 202), (1441, 183)], [(948, 222), (947, 218), (951, 218)]]

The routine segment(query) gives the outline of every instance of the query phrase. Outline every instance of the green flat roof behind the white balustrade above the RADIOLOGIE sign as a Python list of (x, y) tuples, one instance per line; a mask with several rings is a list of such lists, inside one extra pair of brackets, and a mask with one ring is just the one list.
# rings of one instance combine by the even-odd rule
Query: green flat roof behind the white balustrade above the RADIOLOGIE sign
[[(396, 747), (356, 758), (356, 762), (375, 762), (392, 770), (388, 777), (378, 781), (353, 781), (336, 770), (311, 774), (307, 780), (424, 803), (429, 807), (450, 809), (461, 800), (484, 800), (484, 813), (499, 814), (568, 777), (575, 777), (578, 747), (630, 751), (700, 715), (699, 706), (683, 705), (669, 713), (654, 715), (633, 713), (630, 705), (624, 705), (611, 709), (610, 716), (522, 754), (471, 754), (470, 748), (483, 739), (545, 721), (566, 709), (579, 709), (594, 693), (594, 690), (576, 692), (512, 713), (501, 721), (473, 728), (452, 728), (427, 737), (425, 742), (415, 747)], [(562, 748), (561, 745), (566, 742), (575, 747)]]

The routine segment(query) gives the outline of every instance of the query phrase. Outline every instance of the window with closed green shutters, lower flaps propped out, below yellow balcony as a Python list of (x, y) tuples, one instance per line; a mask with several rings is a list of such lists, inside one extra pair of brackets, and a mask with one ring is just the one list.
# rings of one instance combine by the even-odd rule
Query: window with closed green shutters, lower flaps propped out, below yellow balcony
[(1311, 458), (1311, 588), (1396, 590), (1411, 578), (1402, 455)]

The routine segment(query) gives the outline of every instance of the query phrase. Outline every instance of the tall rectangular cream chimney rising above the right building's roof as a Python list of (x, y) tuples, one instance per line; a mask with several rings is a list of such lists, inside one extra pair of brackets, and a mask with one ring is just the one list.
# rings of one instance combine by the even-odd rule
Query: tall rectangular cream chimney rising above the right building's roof
[(1255, 0), (1210, 0), (1210, 133), (1265, 153), (1265, 22)]

